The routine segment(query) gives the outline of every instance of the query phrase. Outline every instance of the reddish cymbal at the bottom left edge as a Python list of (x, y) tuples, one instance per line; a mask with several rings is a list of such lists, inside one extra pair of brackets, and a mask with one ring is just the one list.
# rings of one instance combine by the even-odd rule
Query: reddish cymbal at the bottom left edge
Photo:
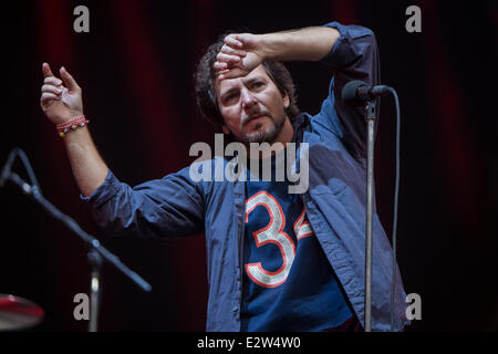
[(45, 313), (34, 302), (0, 294), (0, 331), (24, 330), (39, 324)]

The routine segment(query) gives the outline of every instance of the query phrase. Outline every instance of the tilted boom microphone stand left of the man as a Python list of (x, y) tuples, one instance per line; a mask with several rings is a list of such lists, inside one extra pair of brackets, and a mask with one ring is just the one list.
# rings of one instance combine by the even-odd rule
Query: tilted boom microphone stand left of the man
[(149, 292), (152, 291), (151, 284), (148, 284), (144, 279), (142, 279), (137, 273), (128, 269), (125, 264), (121, 262), (121, 260), (111, 253), (107, 249), (105, 249), (101, 242), (94, 238), (93, 236), (83, 231), (74, 219), (62, 214), (56, 207), (54, 207), (49, 200), (46, 200), (40, 192), (37, 186), (31, 186), (18, 174), (9, 171), (8, 180), (13, 181), (23, 194), (34, 199), (38, 204), (40, 204), (50, 215), (54, 218), (59, 219), (64, 223), (70, 230), (76, 233), (89, 247), (90, 251), (87, 253), (89, 262), (92, 267), (91, 272), (91, 287), (90, 287), (90, 309), (91, 309), (91, 317), (89, 322), (89, 332), (97, 331), (97, 319), (98, 319), (98, 310), (100, 310), (100, 300), (101, 300), (101, 267), (103, 260), (107, 261), (110, 264), (114, 266), (118, 271), (125, 274), (132, 282), (142, 288), (142, 290)]

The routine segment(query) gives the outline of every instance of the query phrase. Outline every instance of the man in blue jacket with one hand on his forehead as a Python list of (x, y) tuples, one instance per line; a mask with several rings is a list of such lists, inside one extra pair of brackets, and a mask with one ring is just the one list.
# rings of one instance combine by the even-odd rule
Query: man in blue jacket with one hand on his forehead
[[(313, 117), (299, 114), (292, 80), (278, 62), (291, 60), (320, 60), (334, 74)], [(64, 69), (61, 81), (43, 64), (41, 105), (63, 135), (82, 199), (98, 225), (146, 237), (205, 232), (207, 331), (359, 331), (364, 327), (366, 128), (363, 112), (346, 106), (338, 92), (350, 80), (377, 84), (378, 70), (372, 31), (338, 22), (230, 34), (212, 44), (198, 65), (196, 93), (208, 121), (249, 147), (251, 167), (241, 173), (247, 178), (235, 180), (193, 178), (193, 167), (232, 163), (217, 156), (132, 188), (100, 157), (82, 116), (81, 88)], [(251, 143), (272, 148), (255, 153)], [(261, 180), (259, 168), (252, 168), (255, 160), (256, 166), (270, 162), (273, 174), (291, 144), (308, 152), (308, 162), (301, 155), (295, 162), (309, 169), (299, 194), (289, 192), (289, 179)], [(391, 256), (375, 215), (373, 331), (390, 330)], [(397, 274), (396, 331), (408, 323), (404, 300)]]

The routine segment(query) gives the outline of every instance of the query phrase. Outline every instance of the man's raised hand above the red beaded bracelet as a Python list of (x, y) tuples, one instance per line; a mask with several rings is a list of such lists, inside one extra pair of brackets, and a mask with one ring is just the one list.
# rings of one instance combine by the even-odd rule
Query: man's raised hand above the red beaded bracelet
[(59, 71), (62, 80), (53, 75), (48, 63), (43, 63), (42, 70), (44, 81), (40, 105), (46, 117), (53, 124), (62, 124), (83, 115), (81, 87), (65, 67)]

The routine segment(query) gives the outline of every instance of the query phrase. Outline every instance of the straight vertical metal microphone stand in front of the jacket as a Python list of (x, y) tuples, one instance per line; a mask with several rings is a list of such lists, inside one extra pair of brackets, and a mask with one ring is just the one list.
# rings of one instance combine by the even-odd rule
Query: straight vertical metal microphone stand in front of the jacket
[(366, 238), (365, 238), (365, 332), (372, 331), (372, 230), (374, 210), (374, 142), (375, 142), (375, 102), (365, 106), (367, 123), (366, 160)]

